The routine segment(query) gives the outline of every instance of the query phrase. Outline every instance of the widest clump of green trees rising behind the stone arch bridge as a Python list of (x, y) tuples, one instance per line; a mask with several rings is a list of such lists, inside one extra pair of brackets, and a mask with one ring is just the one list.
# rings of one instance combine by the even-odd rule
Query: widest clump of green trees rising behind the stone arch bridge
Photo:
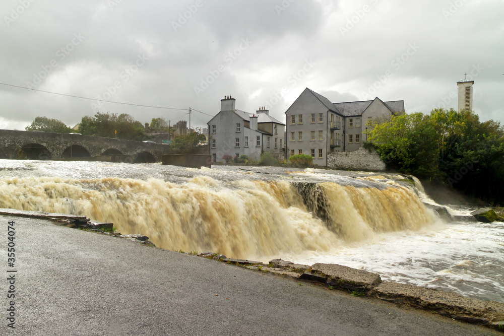
[[(144, 127), (133, 116), (121, 113), (96, 112), (92, 116), (84, 116), (79, 130), (88, 136), (115, 138), (124, 140), (142, 141), (144, 139)], [(115, 134), (117, 131), (117, 135)]]

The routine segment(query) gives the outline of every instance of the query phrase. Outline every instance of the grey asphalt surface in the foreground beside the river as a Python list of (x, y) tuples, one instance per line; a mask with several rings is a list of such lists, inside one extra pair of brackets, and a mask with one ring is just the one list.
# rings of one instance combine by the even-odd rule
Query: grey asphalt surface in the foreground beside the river
[[(16, 259), (8, 267), (12, 220)], [(46, 220), (0, 223), (2, 335), (501, 334)], [(12, 274), (15, 329), (7, 326)]]

